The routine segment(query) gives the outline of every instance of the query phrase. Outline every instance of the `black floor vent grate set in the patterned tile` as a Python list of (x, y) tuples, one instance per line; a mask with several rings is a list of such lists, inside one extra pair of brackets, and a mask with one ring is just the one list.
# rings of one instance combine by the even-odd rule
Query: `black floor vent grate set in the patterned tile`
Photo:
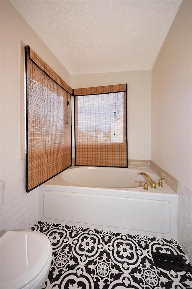
[(190, 263), (186, 264), (182, 255), (152, 252), (155, 267), (173, 271), (191, 271)]

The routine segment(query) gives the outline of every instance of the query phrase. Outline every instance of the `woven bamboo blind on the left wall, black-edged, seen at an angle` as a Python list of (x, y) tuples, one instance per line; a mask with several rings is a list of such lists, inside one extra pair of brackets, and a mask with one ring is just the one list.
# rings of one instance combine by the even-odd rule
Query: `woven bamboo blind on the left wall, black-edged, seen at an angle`
[(72, 165), (72, 89), (29, 46), (25, 59), (29, 192)]

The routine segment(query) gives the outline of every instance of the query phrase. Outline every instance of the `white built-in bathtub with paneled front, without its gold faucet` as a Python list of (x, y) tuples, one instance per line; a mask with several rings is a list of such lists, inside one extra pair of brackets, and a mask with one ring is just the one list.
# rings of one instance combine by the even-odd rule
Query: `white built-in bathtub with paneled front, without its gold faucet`
[[(149, 192), (146, 172), (157, 183)], [(114, 232), (176, 238), (177, 194), (151, 169), (72, 167), (39, 189), (40, 220)]]

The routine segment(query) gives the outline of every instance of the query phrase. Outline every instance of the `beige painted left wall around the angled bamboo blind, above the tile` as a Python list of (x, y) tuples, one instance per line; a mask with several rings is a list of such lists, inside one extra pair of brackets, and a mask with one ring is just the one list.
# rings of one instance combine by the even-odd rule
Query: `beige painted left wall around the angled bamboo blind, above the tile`
[(9, 1), (1, 3), (1, 179), (10, 185), (25, 177), (20, 160), (20, 40), (31, 46), (70, 85), (70, 74)]

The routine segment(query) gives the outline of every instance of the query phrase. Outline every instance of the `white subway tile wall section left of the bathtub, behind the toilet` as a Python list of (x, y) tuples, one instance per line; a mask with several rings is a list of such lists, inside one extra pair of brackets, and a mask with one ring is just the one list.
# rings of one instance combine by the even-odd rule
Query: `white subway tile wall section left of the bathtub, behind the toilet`
[(22, 179), (5, 187), (0, 236), (7, 231), (29, 230), (39, 219), (39, 189), (29, 193)]

